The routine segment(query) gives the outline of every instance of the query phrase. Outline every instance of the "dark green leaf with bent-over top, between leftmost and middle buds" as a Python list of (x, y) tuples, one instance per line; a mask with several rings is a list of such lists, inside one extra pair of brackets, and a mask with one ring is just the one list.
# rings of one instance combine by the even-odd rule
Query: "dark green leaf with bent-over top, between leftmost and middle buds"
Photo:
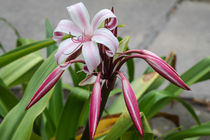
[(89, 98), (87, 90), (79, 87), (68, 86), (71, 93), (64, 106), (56, 131), (56, 140), (75, 139), (80, 120), (80, 113)]

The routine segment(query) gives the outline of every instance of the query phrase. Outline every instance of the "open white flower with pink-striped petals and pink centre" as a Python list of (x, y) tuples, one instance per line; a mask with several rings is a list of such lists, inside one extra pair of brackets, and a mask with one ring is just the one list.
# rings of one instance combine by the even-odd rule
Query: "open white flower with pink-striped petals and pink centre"
[[(66, 59), (81, 49), (88, 72), (92, 73), (101, 62), (97, 43), (107, 48), (106, 54), (110, 57), (117, 51), (119, 42), (110, 31), (117, 26), (116, 16), (112, 11), (103, 9), (94, 16), (90, 23), (88, 11), (83, 3), (69, 6), (67, 10), (72, 21), (61, 20), (54, 30), (53, 39), (59, 43), (55, 55), (56, 61), (62, 65)], [(110, 19), (106, 28), (98, 28), (106, 19)], [(61, 41), (65, 34), (70, 34), (72, 37)]]

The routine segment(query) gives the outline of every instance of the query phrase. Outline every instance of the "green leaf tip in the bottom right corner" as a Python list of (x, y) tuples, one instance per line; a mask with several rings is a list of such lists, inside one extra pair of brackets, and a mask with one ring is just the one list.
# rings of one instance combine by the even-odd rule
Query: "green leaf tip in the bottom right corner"
[(197, 136), (209, 136), (210, 135), (210, 122), (202, 123), (199, 126), (192, 127), (190, 129), (182, 130), (177, 133), (168, 135), (165, 140), (184, 139)]

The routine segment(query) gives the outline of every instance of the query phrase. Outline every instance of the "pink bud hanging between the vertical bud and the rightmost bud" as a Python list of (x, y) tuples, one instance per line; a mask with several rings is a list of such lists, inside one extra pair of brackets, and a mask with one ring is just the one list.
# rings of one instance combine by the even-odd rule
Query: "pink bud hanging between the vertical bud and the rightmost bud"
[(140, 135), (142, 137), (144, 137), (141, 117), (139, 114), (138, 102), (136, 100), (134, 91), (133, 91), (129, 81), (125, 78), (125, 76), (121, 72), (118, 72), (118, 74), (122, 78), (121, 81), (122, 81), (123, 95), (124, 95), (124, 99), (125, 99), (125, 103), (126, 103), (128, 112), (129, 112), (131, 119), (133, 120), (133, 123), (135, 124), (138, 132), (140, 133)]

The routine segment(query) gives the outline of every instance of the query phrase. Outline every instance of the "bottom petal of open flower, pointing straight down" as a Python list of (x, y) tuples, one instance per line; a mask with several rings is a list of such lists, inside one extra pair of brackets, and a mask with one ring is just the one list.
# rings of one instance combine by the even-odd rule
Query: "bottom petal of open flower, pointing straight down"
[(87, 64), (88, 71), (92, 73), (101, 61), (98, 46), (93, 41), (85, 42), (82, 47), (82, 54)]

